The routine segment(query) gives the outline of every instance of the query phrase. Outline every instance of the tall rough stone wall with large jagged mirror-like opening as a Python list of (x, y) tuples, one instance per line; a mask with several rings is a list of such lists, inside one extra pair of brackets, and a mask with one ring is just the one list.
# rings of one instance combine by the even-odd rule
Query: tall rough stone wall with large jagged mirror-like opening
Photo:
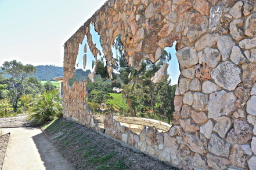
[(174, 125), (137, 135), (107, 114), (106, 134), (183, 169), (256, 169), (256, 2), (253, 0), (109, 0), (64, 45), (63, 114), (99, 130), (86, 108), (86, 82), (73, 77), (78, 45), (90, 24), (103, 40), (111, 76), (111, 45), (121, 35), (128, 64), (159, 60), (176, 40), (181, 76)]

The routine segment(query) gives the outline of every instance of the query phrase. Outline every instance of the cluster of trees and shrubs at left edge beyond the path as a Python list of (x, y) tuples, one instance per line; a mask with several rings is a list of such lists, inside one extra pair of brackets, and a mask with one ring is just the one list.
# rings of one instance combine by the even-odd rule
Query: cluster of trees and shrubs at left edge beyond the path
[[(33, 76), (37, 68), (31, 64), (23, 65), (16, 60), (5, 61), (0, 68), (0, 117), (26, 112), (34, 98), (56, 88), (50, 81), (43, 86)], [(10, 78), (3, 74), (10, 75)]]

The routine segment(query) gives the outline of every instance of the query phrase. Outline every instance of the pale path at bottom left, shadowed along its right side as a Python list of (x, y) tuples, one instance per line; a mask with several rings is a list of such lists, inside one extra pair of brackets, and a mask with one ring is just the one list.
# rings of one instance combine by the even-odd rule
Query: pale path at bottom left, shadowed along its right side
[(73, 169), (39, 128), (4, 128), (10, 132), (3, 170)]

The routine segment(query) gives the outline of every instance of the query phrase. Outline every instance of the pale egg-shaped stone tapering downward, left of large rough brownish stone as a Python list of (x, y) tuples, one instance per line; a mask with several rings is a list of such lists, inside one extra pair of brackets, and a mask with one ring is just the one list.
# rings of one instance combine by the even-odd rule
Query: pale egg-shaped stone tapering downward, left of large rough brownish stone
[(215, 124), (213, 130), (215, 132), (218, 132), (221, 138), (225, 138), (225, 135), (228, 132), (231, 125), (232, 125), (232, 122), (229, 119), (229, 117), (223, 116), (218, 120), (217, 124)]

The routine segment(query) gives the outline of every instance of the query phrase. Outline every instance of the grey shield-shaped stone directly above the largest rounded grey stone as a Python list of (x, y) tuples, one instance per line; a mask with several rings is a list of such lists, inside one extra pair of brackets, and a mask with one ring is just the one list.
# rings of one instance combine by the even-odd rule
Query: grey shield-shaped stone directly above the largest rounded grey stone
[(222, 60), (228, 60), (232, 47), (235, 46), (236, 43), (233, 41), (232, 37), (229, 35), (221, 35), (219, 36), (217, 46), (222, 55)]

